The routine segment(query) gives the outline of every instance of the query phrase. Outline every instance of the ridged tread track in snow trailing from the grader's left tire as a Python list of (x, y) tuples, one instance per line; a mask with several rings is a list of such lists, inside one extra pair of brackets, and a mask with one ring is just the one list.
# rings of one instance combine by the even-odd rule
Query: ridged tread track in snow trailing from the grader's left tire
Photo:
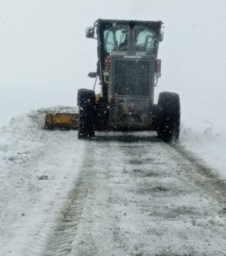
[[(84, 142), (89, 143), (89, 142)], [(88, 148), (89, 146), (89, 148)], [(93, 146), (87, 145), (84, 152), (81, 174), (75, 181), (74, 188), (69, 192), (66, 203), (61, 208), (58, 224), (49, 236), (48, 249), (45, 256), (65, 256), (71, 252), (71, 243), (77, 235), (77, 226), (82, 218), (82, 211), (92, 181)], [(87, 161), (86, 156), (89, 156)]]

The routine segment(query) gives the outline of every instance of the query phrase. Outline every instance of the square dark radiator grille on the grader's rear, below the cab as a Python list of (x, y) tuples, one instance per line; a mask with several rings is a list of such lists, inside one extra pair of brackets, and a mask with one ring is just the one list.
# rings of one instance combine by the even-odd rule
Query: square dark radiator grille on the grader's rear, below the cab
[(150, 62), (115, 60), (114, 93), (119, 95), (149, 95)]

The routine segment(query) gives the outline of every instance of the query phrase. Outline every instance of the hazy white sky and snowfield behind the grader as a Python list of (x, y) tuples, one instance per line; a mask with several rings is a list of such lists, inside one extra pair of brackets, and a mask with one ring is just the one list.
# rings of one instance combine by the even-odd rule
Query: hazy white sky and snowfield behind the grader
[(179, 93), (182, 128), (225, 130), (226, 1), (0, 0), (0, 10), (0, 126), (30, 109), (76, 105), (96, 71), (97, 41), (85, 28), (106, 18), (164, 22), (155, 100)]

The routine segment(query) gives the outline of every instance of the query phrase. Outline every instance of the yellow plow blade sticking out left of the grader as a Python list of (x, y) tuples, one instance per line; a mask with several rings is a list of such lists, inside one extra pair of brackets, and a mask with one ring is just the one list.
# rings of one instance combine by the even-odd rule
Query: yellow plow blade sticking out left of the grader
[(79, 115), (75, 113), (47, 113), (44, 129), (77, 130), (78, 116)]

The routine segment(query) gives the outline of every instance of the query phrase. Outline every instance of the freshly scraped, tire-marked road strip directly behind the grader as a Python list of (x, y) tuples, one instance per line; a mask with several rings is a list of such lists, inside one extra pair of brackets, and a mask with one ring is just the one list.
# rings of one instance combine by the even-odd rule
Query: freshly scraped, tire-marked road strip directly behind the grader
[(225, 255), (225, 186), (203, 166), (155, 136), (85, 144), (44, 255)]

